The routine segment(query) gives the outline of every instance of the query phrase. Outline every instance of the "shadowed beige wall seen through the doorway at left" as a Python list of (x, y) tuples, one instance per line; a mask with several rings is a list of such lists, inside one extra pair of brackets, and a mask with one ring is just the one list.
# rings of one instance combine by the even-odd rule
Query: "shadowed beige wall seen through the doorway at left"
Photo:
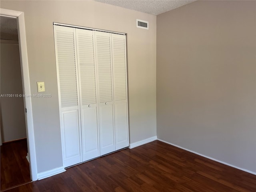
[[(18, 41), (17, 41), (18, 43)], [(18, 44), (0, 44), (1, 95), (23, 94)], [(23, 97), (1, 97), (2, 142), (26, 138)]]

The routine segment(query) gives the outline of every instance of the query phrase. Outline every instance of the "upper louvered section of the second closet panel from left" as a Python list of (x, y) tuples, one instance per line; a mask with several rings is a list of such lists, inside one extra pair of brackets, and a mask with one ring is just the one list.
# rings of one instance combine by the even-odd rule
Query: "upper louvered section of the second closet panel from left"
[(76, 29), (82, 105), (96, 103), (94, 42), (91, 30)]

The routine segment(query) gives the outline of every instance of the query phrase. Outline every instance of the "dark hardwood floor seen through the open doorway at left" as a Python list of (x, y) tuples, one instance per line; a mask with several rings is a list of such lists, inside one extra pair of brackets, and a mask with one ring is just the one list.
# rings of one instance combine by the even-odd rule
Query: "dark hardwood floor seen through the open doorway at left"
[(26, 139), (1, 146), (1, 191), (31, 181), (27, 152)]

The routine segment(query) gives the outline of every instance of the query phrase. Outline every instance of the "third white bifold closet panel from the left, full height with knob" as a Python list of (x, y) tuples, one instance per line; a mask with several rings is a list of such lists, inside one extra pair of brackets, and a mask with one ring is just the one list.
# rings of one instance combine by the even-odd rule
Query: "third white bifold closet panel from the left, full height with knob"
[(111, 34), (95, 31), (96, 63), (98, 71), (98, 101), (100, 128), (100, 155), (115, 151)]

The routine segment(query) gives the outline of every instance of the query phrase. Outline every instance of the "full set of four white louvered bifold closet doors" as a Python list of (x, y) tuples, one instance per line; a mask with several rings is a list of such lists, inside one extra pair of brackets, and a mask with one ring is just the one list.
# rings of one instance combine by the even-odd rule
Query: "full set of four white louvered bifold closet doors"
[(64, 167), (129, 144), (126, 36), (54, 25)]

